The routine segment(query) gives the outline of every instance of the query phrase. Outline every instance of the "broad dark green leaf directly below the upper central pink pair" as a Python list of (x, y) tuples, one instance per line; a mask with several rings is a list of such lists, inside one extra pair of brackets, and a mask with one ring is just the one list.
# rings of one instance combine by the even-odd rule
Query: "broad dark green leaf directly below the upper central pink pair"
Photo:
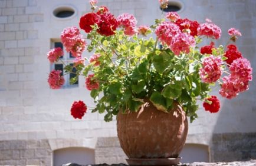
[(155, 55), (152, 58), (157, 72), (163, 73), (171, 65), (172, 56), (166, 51), (162, 51), (160, 55)]

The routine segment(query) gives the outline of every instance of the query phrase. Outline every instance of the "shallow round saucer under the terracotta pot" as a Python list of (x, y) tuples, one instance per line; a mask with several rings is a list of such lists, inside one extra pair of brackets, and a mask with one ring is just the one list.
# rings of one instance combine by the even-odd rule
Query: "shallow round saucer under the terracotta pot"
[(126, 161), (129, 165), (157, 165), (157, 166), (164, 166), (164, 165), (178, 165), (181, 157), (178, 158), (127, 158)]

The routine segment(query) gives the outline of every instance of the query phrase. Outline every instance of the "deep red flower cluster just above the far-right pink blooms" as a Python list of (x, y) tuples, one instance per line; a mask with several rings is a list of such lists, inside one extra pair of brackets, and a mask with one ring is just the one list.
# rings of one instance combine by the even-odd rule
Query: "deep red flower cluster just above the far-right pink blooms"
[(235, 59), (242, 58), (241, 52), (238, 51), (234, 44), (229, 44), (227, 48), (228, 50), (224, 54), (224, 56), (228, 58), (225, 60), (227, 64), (230, 65)]

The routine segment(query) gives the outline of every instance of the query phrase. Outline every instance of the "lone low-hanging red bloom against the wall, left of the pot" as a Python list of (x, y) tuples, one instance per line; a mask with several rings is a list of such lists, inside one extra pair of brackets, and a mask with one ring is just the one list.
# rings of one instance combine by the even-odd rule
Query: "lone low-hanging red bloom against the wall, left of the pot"
[(86, 104), (83, 101), (74, 101), (70, 112), (71, 115), (76, 119), (81, 119), (87, 111)]

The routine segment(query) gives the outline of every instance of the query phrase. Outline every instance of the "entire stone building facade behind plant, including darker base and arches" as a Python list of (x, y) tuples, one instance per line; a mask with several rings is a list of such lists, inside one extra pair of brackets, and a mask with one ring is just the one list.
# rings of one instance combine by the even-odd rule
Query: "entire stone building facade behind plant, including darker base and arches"
[[(116, 16), (133, 14), (137, 25), (153, 24), (161, 16), (157, 0), (99, 1)], [(238, 28), (242, 37), (237, 46), (251, 61), (252, 68), (256, 67), (256, 1), (170, 3), (180, 7), (182, 18), (201, 23), (209, 18), (220, 26), (222, 38), (216, 45), (228, 41), (229, 28)], [(73, 9), (74, 15), (54, 16), (65, 9)], [(74, 100), (83, 100), (93, 107), (84, 78), (80, 77), (73, 87), (66, 85), (58, 90), (50, 89), (47, 83), (48, 73), (54, 68), (48, 62), (47, 52), (60, 41), (65, 27), (78, 26), (80, 16), (89, 11), (85, 0), (0, 0), (0, 165), (125, 162), (116, 138), (116, 121), (104, 122), (103, 114), (90, 111), (83, 120), (74, 120), (70, 115)], [(90, 55), (84, 53), (87, 58)], [(205, 112), (202, 107), (198, 110), (199, 118), (189, 124), (187, 144), (181, 154), (183, 161), (189, 156), (201, 161), (256, 158), (255, 79), (250, 83), (250, 90), (237, 98), (221, 98), (218, 114)], [(218, 89), (214, 88), (212, 94), (218, 95)]]

